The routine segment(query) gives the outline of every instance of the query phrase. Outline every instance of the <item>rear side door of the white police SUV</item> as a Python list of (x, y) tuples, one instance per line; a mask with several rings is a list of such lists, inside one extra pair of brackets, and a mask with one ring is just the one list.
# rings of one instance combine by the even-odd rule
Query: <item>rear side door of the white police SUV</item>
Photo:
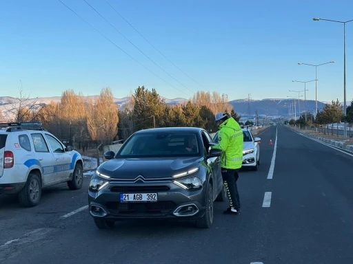
[(57, 171), (55, 170), (57, 162), (55, 157), (42, 133), (31, 133), (30, 136), (34, 147), (34, 155), (39, 164), (41, 164), (43, 184), (51, 184), (57, 180)]

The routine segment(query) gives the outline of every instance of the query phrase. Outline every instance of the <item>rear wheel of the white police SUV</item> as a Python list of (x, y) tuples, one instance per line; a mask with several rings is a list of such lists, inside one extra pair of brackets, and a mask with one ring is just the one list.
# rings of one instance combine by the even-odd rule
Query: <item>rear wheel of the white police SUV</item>
[(35, 173), (28, 175), (27, 182), (19, 192), (19, 203), (23, 207), (37, 206), (41, 200), (41, 180)]

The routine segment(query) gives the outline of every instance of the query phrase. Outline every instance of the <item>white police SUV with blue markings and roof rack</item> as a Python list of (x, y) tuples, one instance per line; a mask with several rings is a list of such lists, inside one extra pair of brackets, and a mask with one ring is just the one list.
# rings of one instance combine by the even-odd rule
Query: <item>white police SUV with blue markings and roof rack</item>
[(41, 122), (0, 123), (0, 194), (17, 194), (22, 206), (37, 206), (41, 189), (83, 182), (83, 159), (66, 148)]

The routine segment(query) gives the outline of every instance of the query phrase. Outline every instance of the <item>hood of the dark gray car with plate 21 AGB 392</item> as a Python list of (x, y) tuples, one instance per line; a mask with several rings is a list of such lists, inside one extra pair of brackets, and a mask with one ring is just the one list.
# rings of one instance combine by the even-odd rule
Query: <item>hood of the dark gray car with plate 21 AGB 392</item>
[(196, 168), (200, 162), (200, 157), (110, 159), (97, 170), (115, 179), (134, 179), (139, 175), (145, 179), (165, 178)]

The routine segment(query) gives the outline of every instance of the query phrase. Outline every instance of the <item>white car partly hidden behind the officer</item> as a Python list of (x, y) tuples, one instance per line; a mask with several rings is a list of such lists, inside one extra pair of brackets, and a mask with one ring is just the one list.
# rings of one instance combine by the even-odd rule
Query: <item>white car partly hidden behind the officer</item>
[[(254, 137), (249, 129), (241, 129), (243, 131), (243, 165), (242, 167), (250, 167), (252, 170), (258, 170), (260, 165), (260, 137)], [(213, 137), (214, 142), (218, 142), (218, 132)]]

